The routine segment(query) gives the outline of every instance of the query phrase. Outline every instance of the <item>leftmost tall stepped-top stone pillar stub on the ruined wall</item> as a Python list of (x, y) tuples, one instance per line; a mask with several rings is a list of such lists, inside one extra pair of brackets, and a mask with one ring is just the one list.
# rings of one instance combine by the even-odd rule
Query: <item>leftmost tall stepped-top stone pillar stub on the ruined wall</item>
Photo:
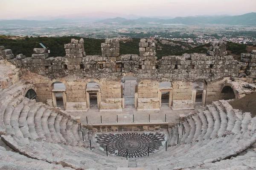
[(66, 58), (82, 58), (85, 57), (84, 39), (75, 40), (71, 39), (71, 43), (64, 44), (66, 51)]

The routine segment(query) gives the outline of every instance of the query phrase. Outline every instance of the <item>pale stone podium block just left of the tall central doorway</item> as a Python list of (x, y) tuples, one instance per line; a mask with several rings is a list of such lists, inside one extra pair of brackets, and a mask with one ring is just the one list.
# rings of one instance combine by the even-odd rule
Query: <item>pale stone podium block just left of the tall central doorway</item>
[(100, 102), (100, 112), (119, 112), (125, 108), (124, 98), (105, 99), (105, 102)]

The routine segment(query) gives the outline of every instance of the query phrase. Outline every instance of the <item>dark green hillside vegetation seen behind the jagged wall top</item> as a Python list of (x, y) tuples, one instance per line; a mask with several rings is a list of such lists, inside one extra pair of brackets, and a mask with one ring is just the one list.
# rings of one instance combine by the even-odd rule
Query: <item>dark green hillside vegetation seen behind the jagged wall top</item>
[[(12, 40), (16, 38), (16, 40)], [(15, 56), (17, 54), (31, 57), (33, 48), (42, 48), (39, 43), (44, 44), (50, 49), (50, 57), (65, 56), (64, 44), (70, 42), (71, 38), (80, 39), (81, 37), (7, 37), (0, 35), (0, 45), (5, 46), (6, 49), (12, 49)], [(86, 55), (101, 55), (101, 43), (105, 42), (103, 39), (84, 38), (84, 50)], [(131, 38), (120, 40), (120, 54), (139, 54), (139, 38)], [(156, 39), (157, 59), (163, 56), (182, 55), (184, 53), (206, 53), (209, 44), (200, 45), (194, 48), (187, 42), (159, 40)], [(240, 58), (241, 53), (249, 53), (256, 49), (253, 45), (242, 45), (232, 42), (227, 42), (227, 51), (229, 55), (233, 55), (235, 59)]]

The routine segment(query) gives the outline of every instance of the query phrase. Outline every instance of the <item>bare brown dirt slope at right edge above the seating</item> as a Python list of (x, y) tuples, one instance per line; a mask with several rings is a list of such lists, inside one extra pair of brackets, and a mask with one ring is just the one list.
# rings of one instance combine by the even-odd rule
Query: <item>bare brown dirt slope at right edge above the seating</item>
[(230, 102), (233, 108), (243, 112), (250, 112), (252, 117), (256, 116), (256, 93), (247, 94), (239, 100)]

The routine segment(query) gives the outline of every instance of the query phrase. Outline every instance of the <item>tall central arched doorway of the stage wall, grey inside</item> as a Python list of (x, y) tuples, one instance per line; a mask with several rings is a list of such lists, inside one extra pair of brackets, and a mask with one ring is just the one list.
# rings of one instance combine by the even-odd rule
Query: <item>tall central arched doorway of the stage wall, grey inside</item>
[(133, 76), (121, 79), (121, 98), (125, 98), (125, 106), (135, 105), (135, 93), (138, 92), (138, 82)]

